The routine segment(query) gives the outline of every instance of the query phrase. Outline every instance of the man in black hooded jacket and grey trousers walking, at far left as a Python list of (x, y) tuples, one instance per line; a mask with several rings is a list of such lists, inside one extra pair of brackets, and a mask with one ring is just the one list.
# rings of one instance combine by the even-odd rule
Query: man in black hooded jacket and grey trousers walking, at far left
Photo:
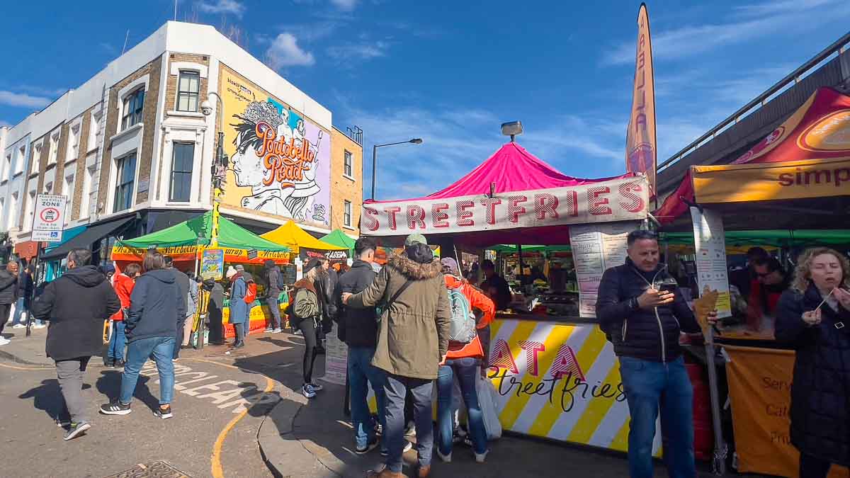
[(89, 265), (91, 260), (88, 249), (71, 251), (67, 272), (48, 283), (32, 303), (32, 315), (50, 322), (47, 354), (56, 362), (59, 388), (71, 414), (65, 440), (91, 427), (82, 399), (82, 377), (88, 360), (103, 350), (104, 321), (121, 310), (115, 289), (97, 267)]

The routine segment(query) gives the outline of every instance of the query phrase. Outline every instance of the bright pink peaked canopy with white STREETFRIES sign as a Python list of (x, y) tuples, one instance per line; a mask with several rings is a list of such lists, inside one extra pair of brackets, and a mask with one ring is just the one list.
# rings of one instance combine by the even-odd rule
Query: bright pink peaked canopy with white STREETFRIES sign
[(461, 233), (456, 242), (479, 247), (566, 244), (570, 232), (564, 225), (644, 219), (648, 204), (642, 175), (573, 178), (512, 142), (430, 196), (365, 202), (360, 233)]

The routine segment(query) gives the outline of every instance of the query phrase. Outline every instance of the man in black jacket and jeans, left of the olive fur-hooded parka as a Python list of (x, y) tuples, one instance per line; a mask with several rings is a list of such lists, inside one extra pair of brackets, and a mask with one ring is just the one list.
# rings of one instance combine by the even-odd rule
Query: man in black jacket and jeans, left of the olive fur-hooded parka
[(375, 260), (375, 241), (361, 237), (354, 243), (354, 253), (357, 259), (351, 269), (339, 277), (334, 294), (339, 311), (338, 333), (348, 345), (348, 381), (351, 384), (351, 418), (354, 421), (355, 451), (365, 453), (377, 446), (375, 427), (371, 424), (369, 406), (366, 396), (369, 385), (375, 392), (378, 407), (378, 417), (384, 424), (384, 373), (380, 368), (371, 365), (377, 345), (377, 316), (374, 307), (354, 309), (343, 305), (343, 293), (360, 293), (377, 274), (371, 268)]

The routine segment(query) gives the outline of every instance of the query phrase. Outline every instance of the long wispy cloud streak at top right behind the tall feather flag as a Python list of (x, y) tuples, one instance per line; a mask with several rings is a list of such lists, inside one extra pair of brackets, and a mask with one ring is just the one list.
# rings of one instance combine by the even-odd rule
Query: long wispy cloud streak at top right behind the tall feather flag
[[(810, 31), (826, 21), (850, 14), (850, 3), (836, 0), (781, 0), (740, 6), (736, 12), (734, 20), (726, 22), (656, 31), (652, 36), (653, 60), (678, 60), (704, 54), (716, 48), (768, 36), (776, 31)], [(801, 21), (801, 15), (807, 20)], [(634, 60), (635, 40), (632, 38), (605, 54), (602, 63), (629, 65)]]

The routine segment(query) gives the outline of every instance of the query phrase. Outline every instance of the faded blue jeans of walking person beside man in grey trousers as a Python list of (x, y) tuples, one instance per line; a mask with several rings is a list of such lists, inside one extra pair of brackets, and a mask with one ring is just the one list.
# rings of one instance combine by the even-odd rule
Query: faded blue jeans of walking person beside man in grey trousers
[(171, 403), (171, 398), (174, 395), (173, 351), (173, 337), (150, 337), (130, 342), (127, 345), (127, 364), (124, 365), (124, 373), (121, 378), (121, 396), (118, 399), (122, 403), (130, 403), (133, 400), (136, 382), (139, 381), (139, 370), (142, 369), (148, 357), (153, 356), (154, 361), (156, 361), (156, 370), (160, 376), (160, 405)]

